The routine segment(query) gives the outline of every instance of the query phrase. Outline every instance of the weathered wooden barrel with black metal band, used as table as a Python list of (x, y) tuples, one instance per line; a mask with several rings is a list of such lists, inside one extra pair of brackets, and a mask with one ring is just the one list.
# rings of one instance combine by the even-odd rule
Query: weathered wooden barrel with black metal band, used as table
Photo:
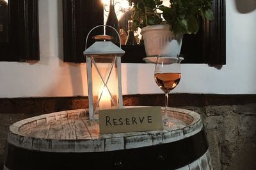
[(164, 130), (99, 134), (87, 109), (53, 112), (10, 126), (4, 170), (212, 169), (200, 115), (168, 108)]

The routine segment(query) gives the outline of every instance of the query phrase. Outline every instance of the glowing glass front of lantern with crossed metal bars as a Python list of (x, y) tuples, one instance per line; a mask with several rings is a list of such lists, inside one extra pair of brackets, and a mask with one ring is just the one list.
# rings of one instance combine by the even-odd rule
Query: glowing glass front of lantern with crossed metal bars
[(118, 109), (117, 56), (92, 55), (93, 114), (99, 109)]

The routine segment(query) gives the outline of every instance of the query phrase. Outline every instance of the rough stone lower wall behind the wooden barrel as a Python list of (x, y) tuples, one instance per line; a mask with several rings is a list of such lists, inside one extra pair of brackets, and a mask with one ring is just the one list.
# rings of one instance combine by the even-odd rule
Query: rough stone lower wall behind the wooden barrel
[[(154, 100), (159, 103), (163, 102), (162, 99), (155, 98)], [(134, 101), (136, 100), (132, 99), (132, 102)], [(136, 104), (141, 105), (141, 102), (138, 101)], [(131, 105), (129, 98), (124, 103)], [(79, 102), (76, 104), (78, 106), (71, 107), (71, 109), (79, 109), (84, 106)], [(150, 105), (157, 104), (155, 102)], [(214, 169), (254, 170), (256, 168), (256, 103), (179, 107), (200, 113), (204, 121)], [(8, 127), (16, 121), (39, 114), (42, 112), (37, 114), (28, 112), (0, 113), (0, 166), (3, 166), (4, 144)]]

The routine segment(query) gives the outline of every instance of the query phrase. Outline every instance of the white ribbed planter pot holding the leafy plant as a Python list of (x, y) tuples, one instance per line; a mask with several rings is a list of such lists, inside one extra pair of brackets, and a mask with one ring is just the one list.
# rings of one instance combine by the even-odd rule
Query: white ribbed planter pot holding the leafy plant
[(141, 35), (147, 57), (180, 54), (183, 36), (174, 36), (169, 25), (143, 27)]

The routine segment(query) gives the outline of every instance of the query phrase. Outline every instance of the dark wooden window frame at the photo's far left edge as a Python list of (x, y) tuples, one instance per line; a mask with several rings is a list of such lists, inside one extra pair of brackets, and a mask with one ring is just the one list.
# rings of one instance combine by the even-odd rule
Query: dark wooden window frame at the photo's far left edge
[(8, 42), (0, 43), (0, 61), (39, 60), (38, 0), (8, 1)]

